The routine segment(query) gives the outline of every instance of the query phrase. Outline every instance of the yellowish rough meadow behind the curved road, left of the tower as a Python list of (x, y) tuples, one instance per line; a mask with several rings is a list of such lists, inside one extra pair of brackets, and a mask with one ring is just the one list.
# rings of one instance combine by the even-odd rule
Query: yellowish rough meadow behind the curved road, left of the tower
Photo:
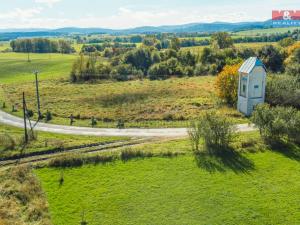
[[(28, 107), (36, 109), (32, 82), (4, 84), (2, 89), (6, 111), (15, 105), (16, 115), (21, 116), (22, 90), (26, 90)], [(125, 127), (186, 127), (201, 112), (216, 108), (236, 123), (247, 122), (235, 109), (218, 103), (212, 76), (95, 84), (44, 80), (40, 94), (42, 110), (51, 111), (52, 122), (59, 124), (69, 124), (73, 114), (76, 126), (90, 126), (94, 116), (99, 127), (116, 127), (119, 119), (125, 120)]]

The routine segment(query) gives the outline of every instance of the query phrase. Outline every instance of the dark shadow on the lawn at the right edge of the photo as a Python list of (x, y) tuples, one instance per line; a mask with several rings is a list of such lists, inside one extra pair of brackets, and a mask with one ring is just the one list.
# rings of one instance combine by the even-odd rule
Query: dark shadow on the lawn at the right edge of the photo
[(292, 160), (300, 161), (300, 145), (291, 142), (270, 143), (270, 148), (274, 152), (278, 152)]

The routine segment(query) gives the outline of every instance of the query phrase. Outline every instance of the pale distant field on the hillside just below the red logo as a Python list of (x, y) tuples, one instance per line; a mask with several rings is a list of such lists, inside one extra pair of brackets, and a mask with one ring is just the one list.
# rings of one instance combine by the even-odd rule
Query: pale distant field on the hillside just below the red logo
[(254, 30), (239, 31), (234, 34), (239, 35), (239, 36), (261, 36), (261, 35), (286, 33), (288, 31), (292, 32), (296, 29), (299, 29), (299, 27), (278, 27), (278, 28), (269, 28), (269, 29), (254, 29)]

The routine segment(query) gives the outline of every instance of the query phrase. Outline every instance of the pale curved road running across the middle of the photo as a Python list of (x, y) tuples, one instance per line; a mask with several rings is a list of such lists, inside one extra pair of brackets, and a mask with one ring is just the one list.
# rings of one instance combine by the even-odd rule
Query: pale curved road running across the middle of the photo
[[(10, 115), (0, 110), (0, 123), (23, 128), (24, 121), (22, 118)], [(34, 123), (34, 122), (32, 122)], [(184, 137), (187, 136), (187, 128), (157, 128), (157, 129), (115, 129), (115, 128), (89, 128), (89, 127), (73, 127), (64, 125), (54, 125), (47, 123), (39, 123), (35, 130), (45, 131), (59, 134), (73, 135), (89, 135), (89, 136), (118, 136), (118, 137)], [(237, 125), (237, 131), (246, 132), (253, 131), (252, 125)]]

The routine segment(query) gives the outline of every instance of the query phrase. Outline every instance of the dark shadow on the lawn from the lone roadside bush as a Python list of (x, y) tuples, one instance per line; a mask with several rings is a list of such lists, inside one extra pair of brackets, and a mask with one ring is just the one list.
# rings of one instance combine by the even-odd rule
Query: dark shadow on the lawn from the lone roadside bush
[(235, 173), (249, 173), (255, 169), (250, 159), (233, 149), (195, 153), (195, 159), (199, 168), (211, 173), (228, 170)]

